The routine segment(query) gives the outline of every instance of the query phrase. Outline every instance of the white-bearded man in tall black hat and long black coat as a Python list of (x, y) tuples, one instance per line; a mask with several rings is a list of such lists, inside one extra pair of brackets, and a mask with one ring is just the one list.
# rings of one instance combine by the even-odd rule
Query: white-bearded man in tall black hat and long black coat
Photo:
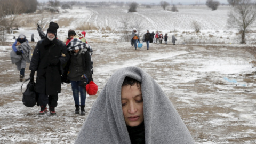
[(30, 79), (36, 74), (36, 92), (41, 107), (39, 115), (47, 113), (47, 104), (51, 115), (55, 115), (58, 93), (61, 90), (61, 65), (67, 62), (65, 43), (57, 39), (57, 23), (50, 22), (46, 37), (40, 40), (33, 52), (29, 69)]

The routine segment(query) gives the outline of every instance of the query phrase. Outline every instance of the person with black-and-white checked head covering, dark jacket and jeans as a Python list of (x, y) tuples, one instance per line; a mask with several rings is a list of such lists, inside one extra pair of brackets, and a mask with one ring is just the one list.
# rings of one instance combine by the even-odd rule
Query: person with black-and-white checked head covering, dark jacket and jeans
[[(86, 84), (92, 81), (91, 74), (91, 55), (87, 49), (89, 44), (82, 42), (79, 38), (71, 39), (67, 45), (70, 59), (64, 68), (64, 75), (71, 83), (73, 98), (75, 101), (75, 114), (79, 114), (79, 106), (81, 107), (80, 115), (85, 115), (86, 100)], [(79, 92), (80, 99), (79, 102)]]

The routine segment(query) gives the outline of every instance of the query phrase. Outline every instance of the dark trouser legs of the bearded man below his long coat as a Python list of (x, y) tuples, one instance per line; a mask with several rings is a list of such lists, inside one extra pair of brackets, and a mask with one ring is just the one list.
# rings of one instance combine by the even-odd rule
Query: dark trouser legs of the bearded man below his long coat
[(39, 93), (38, 102), (40, 106), (46, 106), (48, 104), (50, 107), (57, 107), (58, 98), (58, 94), (46, 95), (43, 93)]

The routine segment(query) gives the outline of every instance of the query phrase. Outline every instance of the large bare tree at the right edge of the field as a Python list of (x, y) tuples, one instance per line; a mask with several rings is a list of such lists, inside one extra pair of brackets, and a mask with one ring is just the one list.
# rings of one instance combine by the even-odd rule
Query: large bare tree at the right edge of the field
[(238, 28), (241, 32), (241, 43), (245, 43), (245, 33), (256, 21), (256, 3), (251, 0), (241, 0), (229, 13), (228, 27)]

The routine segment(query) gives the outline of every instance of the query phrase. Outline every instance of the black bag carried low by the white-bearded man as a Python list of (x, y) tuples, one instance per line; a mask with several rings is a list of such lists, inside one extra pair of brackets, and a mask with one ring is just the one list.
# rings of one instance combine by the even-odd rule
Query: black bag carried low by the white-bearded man
[[(26, 88), (25, 92), (23, 93), (22, 86), (28, 80), (30, 80), (30, 81), (28, 82), (27, 88)], [(22, 102), (26, 107), (34, 107), (36, 105), (36, 103), (38, 105), (38, 102), (37, 102), (38, 101), (38, 93), (35, 91), (35, 82), (34, 82), (34, 79), (30, 79), (30, 78), (26, 79), (26, 81), (23, 82), (23, 84), (21, 85), (21, 88), (20, 88), (20, 90), (23, 94)]]

